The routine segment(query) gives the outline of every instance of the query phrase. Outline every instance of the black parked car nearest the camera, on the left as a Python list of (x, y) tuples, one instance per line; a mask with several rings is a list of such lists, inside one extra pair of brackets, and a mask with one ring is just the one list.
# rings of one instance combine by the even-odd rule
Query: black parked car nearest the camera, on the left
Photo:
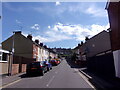
[(45, 72), (47, 72), (47, 66), (45, 65), (43, 61), (32, 62), (32, 63), (27, 64), (26, 73), (28, 75), (41, 74), (43, 76)]

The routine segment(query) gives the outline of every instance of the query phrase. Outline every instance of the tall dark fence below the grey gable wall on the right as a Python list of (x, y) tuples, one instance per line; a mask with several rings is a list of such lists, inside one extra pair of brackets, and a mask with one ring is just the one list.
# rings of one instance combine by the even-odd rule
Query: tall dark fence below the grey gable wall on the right
[(113, 53), (88, 58), (87, 68), (101, 76), (115, 77)]

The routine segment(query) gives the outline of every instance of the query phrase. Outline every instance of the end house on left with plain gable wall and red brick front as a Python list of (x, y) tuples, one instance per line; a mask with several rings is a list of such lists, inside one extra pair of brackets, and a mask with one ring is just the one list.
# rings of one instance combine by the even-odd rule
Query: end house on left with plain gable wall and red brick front
[(14, 48), (14, 55), (25, 58), (38, 59), (38, 47), (39, 45), (32, 41), (32, 36), (25, 37), (21, 34), (21, 31), (15, 32), (14, 35), (2, 42), (2, 48), (8, 51), (12, 51)]

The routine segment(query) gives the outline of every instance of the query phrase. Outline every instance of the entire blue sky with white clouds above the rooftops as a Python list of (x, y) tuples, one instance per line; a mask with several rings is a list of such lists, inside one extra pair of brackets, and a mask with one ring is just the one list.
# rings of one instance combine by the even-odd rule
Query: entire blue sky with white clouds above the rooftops
[(2, 2), (2, 41), (22, 31), (48, 47), (74, 48), (109, 28), (106, 2)]

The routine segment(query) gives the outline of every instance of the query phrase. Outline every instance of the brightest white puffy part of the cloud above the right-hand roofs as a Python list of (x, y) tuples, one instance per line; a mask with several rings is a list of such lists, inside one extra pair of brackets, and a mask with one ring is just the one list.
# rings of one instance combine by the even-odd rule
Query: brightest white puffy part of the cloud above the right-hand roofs
[[(55, 36), (55, 38), (57, 37), (62, 39), (74, 38), (75, 40), (83, 41), (85, 39), (85, 36), (92, 37), (103, 30), (107, 30), (108, 28), (109, 24), (107, 25), (93, 24), (90, 26), (82, 26), (82, 25), (65, 25), (62, 23), (58, 23), (54, 25), (53, 28), (51, 28), (51, 31), (46, 32), (46, 34)], [(59, 35), (64, 36), (59, 37)]]

